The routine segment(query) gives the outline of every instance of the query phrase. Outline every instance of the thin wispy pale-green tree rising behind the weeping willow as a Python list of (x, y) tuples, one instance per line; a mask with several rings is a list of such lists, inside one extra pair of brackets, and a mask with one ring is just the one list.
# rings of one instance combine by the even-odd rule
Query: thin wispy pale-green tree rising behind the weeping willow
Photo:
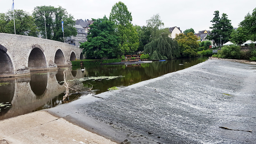
[(153, 41), (154, 39), (158, 38), (160, 35), (159, 28), (164, 26), (164, 23), (160, 19), (159, 14), (157, 13), (156, 15), (153, 15), (147, 22), (147, 27), (151, 33), (149, 41)]

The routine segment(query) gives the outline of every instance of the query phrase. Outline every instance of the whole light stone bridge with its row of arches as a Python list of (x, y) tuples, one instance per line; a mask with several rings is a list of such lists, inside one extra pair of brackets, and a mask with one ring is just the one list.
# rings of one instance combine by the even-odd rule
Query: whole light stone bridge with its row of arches
[(83, 59), (77, 46), (32, 36), (0, 33), (0, 77), (30, 75), (30, 71), (70, 66)]

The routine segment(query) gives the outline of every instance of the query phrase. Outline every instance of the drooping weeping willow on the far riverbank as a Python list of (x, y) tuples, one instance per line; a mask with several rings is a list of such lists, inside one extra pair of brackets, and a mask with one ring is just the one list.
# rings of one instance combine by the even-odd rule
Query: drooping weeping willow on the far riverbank
[(178, 42), (169, 37), (169, 33), (161, 33), (160, 36), (146, 44), (144, 53), (150, 53), (150, 60), (167, 60), (180, 57)]

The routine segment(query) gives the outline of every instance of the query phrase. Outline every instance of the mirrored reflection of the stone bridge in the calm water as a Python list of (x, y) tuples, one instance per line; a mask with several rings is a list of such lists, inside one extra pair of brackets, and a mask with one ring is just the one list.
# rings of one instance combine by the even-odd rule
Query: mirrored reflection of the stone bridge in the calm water
[[(66, 89), (61, 82), (64, 80), (65, 69), (67, 68), (49, 70), (46, 74), (1, 78), (2, 82), (10, 84), (0, 87), (0, 103), (11, 105), (0, 107), (0, 120), (39, 110), (59, 96)], [(66, 74), (67, 80), (83, 77), (81, 70), (68, 71)]]

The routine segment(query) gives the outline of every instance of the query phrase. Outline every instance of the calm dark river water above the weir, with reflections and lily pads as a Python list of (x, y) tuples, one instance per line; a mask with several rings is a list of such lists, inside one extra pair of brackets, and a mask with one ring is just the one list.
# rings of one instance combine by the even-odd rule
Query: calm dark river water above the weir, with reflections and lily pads
[[(93, 85), (93, 94), (108, 91), (108, 88), (123, 87), (156, 78), (167, 73), (191, 67), (206, 60), (206, 57), (153, 61), (133, 65), (100, 65), (58, 68), (49, 71), (33, 71), (29, 76), (0, 78), (0, 120), (27, 114), (63, 104), (64, 74), (71, 84), (85, 89)], [(89, 84), (90, 83), (90, 84)], [(81, 95), (69, 96), (70, 102)]]

